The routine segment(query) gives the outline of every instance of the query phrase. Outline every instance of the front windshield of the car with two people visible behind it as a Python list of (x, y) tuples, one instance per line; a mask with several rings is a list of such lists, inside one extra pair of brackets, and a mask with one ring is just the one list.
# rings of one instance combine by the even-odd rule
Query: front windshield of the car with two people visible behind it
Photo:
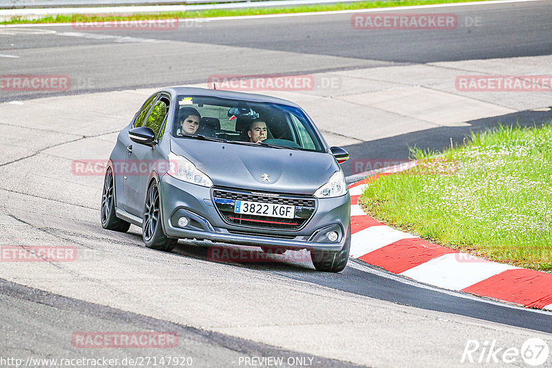
[(316, 128), (299, 108), (206, 96), (177, 101), (173, 136), (324, 152)]

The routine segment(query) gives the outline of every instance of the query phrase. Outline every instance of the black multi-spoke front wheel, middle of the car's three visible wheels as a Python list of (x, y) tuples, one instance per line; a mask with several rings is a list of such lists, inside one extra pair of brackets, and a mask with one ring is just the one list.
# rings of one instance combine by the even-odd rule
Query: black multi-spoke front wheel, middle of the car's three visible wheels
[(146, 196), (144, 220), (142, 221), (142, 238), (146, 247), (170, 252), (177, 245), (178, 239), (168, 238), (161, 225), (161, 210), (159, 208), (159, 188), (152, 183)]

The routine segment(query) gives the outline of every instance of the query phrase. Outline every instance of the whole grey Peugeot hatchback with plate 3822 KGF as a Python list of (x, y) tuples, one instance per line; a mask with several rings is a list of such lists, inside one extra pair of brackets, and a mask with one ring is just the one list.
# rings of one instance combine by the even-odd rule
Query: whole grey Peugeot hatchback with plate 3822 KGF
[(290, 101), (166, 88), (117, 137), (101, 225), (135, 224), (147, 247), (164, 251), (179, 238), (307, 249), (316, 269), (340, 272), (351, 245), (347, 159)]

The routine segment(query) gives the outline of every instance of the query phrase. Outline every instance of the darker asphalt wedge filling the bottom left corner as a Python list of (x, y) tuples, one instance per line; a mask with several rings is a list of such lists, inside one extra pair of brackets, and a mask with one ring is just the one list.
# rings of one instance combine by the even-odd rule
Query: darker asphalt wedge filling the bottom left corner
[[(165, 320), (141, 316), (119, 309), (86, 303), (82, 300), (43, 292), (0, 279), (0, 300), (2, 318), (5, 323), (0, 327), (3, 340), (3, 355), (23, 354), (40, 355), (48, 351), (48, 355), (67, 356), (67, 347), (57, 344), (64, 334), (72, 334), (75, 327), (92, 331), (171, 331), (179, 336), (179, 348), (170, 351), (171, 356), (195, 357), (195, 365), (200, 367), (221, 367), (236, 364), (240, 356), (278, 356), (304, 357), (305, 354), (296, 351), (277, 349), (253, 341), (234, 338), (232, 336), (204, 331), (193, 327), (170, 323)], [(37, 313), (41, 318), (32, 318), (30, 314)], [(15, 322), (15, 323), (14, 323)], [(40, 334), (37, 334), (37, 328)], [(30, 347), (34, 340), (40, 347)], [(9, 343), (8, 343), (9, 341)], [(65, 355), (64, 355), (65, 354)], [(119, 359), (137, 356), (158, 356), (155, 349), (141, 349), (136, 354), (132, 349), (103, 349), (101, 356), (107, 359)], [(82, 358), (94, 358), (95, 351), (89, 354), (81, 353)], [(208, 358), (210, 356), (210, 358)], [(4, 357), (6, 357), (4, 355)], [(198, 358), (199, 357), (199, 358)], [(315, 365), (321, 367), (358, 367), (347, 362), (327, 358), (309, 356)], [(199, 360), (199, 362), (198, 362)], [(209, 363), (206, 364), (206, 361)], [(193, 360), (192, 360), (193, 362)], [(288, 365), (283, 365), (287, 367)]]

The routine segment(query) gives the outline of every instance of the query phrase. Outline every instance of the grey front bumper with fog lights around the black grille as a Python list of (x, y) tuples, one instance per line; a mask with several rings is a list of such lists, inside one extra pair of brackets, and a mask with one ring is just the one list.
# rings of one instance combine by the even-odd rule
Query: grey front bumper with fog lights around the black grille
[[(212, 201), (213, 188), (180, 181), (170, 175), (159, 180), (161, 218), (165, 234), (172, 238), (195, 238), (222, 243), (284, 247), (286, 249), (342, 249), (350, 226), (351, 199), (348, 194), (337, 198), (316, 199), (317, 208), (298, 230), (255, 229), (226, 223)], [(188, 225), (181, 228), (178, 218), (186, 216)], [(336, 231), (337, 241), (324, 234)]]

